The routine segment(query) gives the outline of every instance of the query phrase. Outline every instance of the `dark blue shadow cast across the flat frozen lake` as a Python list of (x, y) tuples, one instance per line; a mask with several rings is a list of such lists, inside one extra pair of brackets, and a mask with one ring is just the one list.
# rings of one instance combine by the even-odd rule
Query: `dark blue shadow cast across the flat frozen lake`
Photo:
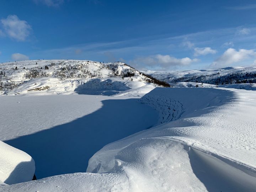
[(158, 113), (138, 99), (102, 103), (94, 113), (5, 143), (30, 154), (37, 178), (43, 178), (86, 172), (88, 160), (104, 145), (157, 123)]

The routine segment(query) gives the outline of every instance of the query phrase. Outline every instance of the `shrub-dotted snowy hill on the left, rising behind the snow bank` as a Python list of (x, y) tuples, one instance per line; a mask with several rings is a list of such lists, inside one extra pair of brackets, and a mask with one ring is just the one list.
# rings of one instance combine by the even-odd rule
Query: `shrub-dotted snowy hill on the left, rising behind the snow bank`
[(26, 60), (0, 64), (0, 93), (10, 95), (44, 90), (64, 93), (97, 78), (119, 78), (169, 86), (122, 62)]

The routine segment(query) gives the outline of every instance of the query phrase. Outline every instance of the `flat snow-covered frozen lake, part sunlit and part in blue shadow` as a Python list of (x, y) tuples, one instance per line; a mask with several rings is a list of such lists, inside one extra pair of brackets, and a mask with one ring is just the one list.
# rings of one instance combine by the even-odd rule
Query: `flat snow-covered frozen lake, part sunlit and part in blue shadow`
[[(104, 145), (157, 123), (157, 112), (138, 100), (101, 95), (3, 96), (1, 140), (33, 157), (37, 178), (85, 172), (90, 157)], [(141, 121), (146, 118), (150, 119)]]

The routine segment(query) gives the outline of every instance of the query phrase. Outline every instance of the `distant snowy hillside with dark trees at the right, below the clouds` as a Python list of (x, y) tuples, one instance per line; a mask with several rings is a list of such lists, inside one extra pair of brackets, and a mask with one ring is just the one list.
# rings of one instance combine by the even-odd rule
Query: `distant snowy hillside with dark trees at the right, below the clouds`
[(204, 70), (144, 71), (168, 83), (199, 82), (213, 85), (256, 83), (256, 66), (234, 66)]

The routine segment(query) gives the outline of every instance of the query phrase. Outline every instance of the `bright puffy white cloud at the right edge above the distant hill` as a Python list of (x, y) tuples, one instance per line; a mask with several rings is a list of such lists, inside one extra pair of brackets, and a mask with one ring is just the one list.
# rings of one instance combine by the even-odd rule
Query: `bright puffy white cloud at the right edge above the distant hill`
[(212, 66), (226, 66), (250, 57), (256, 57), (256, 52), (252, 49), (239, 49), (236, 51), (233, 48), (229, 48), (212, 63)]

